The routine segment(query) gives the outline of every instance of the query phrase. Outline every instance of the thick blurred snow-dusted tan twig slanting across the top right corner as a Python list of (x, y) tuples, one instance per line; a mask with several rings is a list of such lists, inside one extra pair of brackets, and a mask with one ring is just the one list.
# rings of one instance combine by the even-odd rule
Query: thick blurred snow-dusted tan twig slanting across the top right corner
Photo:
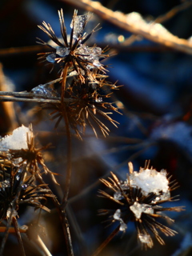
[[(106, 7), (102, 6), (100, 2), (94, 2), (90, 0), (62, 1), (68, 2), (82, 9), (89, 10), (94, 14), (98, 14), (98, 16), (107, 20), (107, 22), (111, 22), (115, 26), (121, 27), (123, 30), (127, 30), (133, 34), (141, 35), (142, 37), (147, 38), (150, 41), (157, 42), (164, 46), (168, 46), (170, 48), (173, 48), (174, 50), (179, 50), (186, 54), (192, 54), (191, 42), (187, 41), (186, 39), (174, 36), (174, 34), (171, 34), (158, 23), (147, 23), (144, 19), (142, 19), (141, 16), (139, 16), (140, 14), (137, 14), (137, 17), (135, 13), (130, 13), (126, 15), (119, 11), (107, 9)], [(155, 28), (156, 24), (159, 25), (158, 28)]]

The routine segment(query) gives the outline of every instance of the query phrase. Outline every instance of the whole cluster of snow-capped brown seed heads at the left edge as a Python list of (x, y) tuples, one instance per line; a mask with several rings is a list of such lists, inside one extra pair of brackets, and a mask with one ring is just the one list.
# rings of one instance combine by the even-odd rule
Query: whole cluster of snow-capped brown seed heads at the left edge
[[(18, 127), (12, 135), (0, 140), (0, 223), (6, 222), (6, 232), (14, 226), (21, 246), (22, 239), (18, 229), (20, 206), (32, 206), (34, 210), (50, 212), (45, 204), (48, 198), (54, 197), (49, 187), (39, 182), (42, 181), (40, 166), (45, 173), (50, 173), (52, 178), (54, 176), (43, 160), (44, 148), (35, 147), (31, 125)], [(3, 246), (5, 242), (6, 235)]]

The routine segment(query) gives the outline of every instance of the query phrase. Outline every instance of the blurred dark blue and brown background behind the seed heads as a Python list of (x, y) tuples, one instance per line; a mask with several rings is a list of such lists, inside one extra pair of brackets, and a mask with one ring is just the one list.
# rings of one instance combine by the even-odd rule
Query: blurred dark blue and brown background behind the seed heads
[[(78, 1), (78, 0), (77, 0)], [(125, 14), (138, 12), (147, 21), (166, 14), (184, 1), (163, 0), (111, 0), (100, 1), (110, 10)], [(191, 1), (187, 1), (191, 2)], [(55, 34), (60, 37), (58, 10), (63, 9), (66, 28), (70, 22), (75, 4), (71, 6), (58, 0), (1, 0), (0, 2), (0, 90), (30, 91), (33, 87), (58, 78), (58, 70), (50, 73), (51, 67), (38, 60), (43, 52), (36, 38), (48, 41), (46, 34), (38, 29), (42, 21), (50, 23)], [(78, 14), (86, 10), (78, 8)], [(175, 222), (171, 228), (178, 231), (172, 238), (162, 235), (166, 245), (154, 242), (154, 248), (142, 251), (137, 243), (134, 224), (130, 223), (126, 234), (118, 234), (101, 255), (164, 255), (182, 256), (192, 254), (192, 56), (174, 49), (158, 45), (138, 35), (114, 26), (93, 14), (86, 30), (90, 31), (100, 23), (102, 30), (96, 32), (88, 42), (90, 46), (110, 46), (111, 57), (105, 60), (108, 65), (110, 82), (122, 87), (114, 90), (111, 101), (120, 107), (121, 114), (113, 114), (119, 122), (118, 129), (107, 123), (110, 135), (94, 137), (87, 127), (83, 141), (73, 137), (73, 172), (70, 198), (67, 206), (75, 255), (90, 255), (114, 230), (107, 226), (105, 217), (98, 216), (98, 210), (107, 208), (109, 202), (98, 197), (98, 190), (105, 190), (99, 178), (110, 176), (113, 171), (125, 179), (127, 162), (134, 164), (134, 170), (144, 167), (150, 159), (156, 170), (166, 169), (179, 184), (174, 194), (180, 201), (167, 206), (186, 206), (181, 213), (168, 213)], [(172, 34), (188, 39), (192, 35), (192, 5), (178, 11), (162, 23)], [(38, 145), (52, 144), (45, 150), (44, 158), (57, 177), (60, 188), (52, 190), (62, 198), (66, 166), (66, 140), (63, 125), (54, 130), (55, 122), (50, 121), (49, 113), (37, 112), (38, 104), (27, 102), (1, 102), (0, 134), (4, 136), (14, 128), (31, 122)], [(65, 255), (66, 249), (57, 212), (42, 213), (40, 222), (46, 227), (43, 237), (46, 246), (54, 256)], [(27, 214), (26, 214), (27, 213)], [(31, 210), (21, 213), (20, 224), (29, 225), (38, 214)], [(24, 238), (25, 240), (25, 238)], [(25, 240), (26, 241), (26, 240)], [(26, 243), (27, 255), (42, 255), (31, 244)], [(11, 245), (11, 246), (10, 246)], [(5, 255), (19, 255), (18, 242), (10, 235)], [(33, 248), (33, 250), (31, 249)]]

